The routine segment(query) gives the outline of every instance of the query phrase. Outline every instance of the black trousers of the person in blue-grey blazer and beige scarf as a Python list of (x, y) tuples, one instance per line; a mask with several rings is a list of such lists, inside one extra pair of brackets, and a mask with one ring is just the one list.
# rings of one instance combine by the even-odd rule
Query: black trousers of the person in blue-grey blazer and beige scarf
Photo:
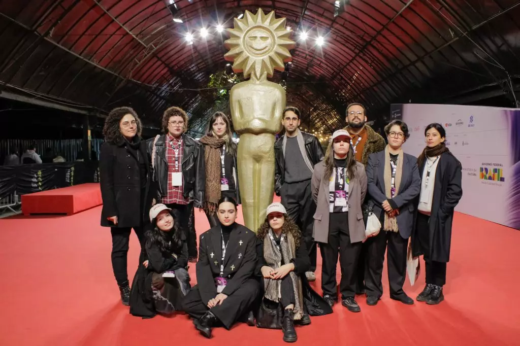
[(381, 297), (383, 295), (383, 262), (387, 249), (388, 283), (391, 297), (405, 295), (402, 285), (406, 278), (406, 254), (408, 239), (401, 237), (399, 232), (386, 232), (381, 230), (378, 235), (368, 238), (365, 242), (368, 247), (367, 268), (365, 271), (365, 289), (369, 297)]

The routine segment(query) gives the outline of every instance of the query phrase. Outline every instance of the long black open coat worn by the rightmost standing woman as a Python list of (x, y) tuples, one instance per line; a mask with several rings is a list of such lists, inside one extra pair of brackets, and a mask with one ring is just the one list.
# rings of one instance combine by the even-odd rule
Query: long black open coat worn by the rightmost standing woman
[[(419, 167), (421, 179), (424, 166)], [(448, 262), (450, 259), (451, 225), (454, 208), (462, 197), (462, 165), (450, 152), (440, 155), (435, 170), (435, 185), (433, 188), (432, 211), (430, 216), (430, 254), (428, 258), (437, 262)], [(419, 197), (415, 206), (419, 205)], [(417, 223), (415, 223), (416, 225)], [(414, 257), (423, 255), (419, 245), (417, 227), (412, 232), (412, 254)]]

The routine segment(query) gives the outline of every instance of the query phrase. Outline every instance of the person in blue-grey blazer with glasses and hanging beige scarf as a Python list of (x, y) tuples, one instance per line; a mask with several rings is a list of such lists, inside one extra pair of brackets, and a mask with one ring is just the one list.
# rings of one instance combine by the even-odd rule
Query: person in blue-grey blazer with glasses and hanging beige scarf
[(413, 229), (414, 203), (421, 190), (417, 158), (405, 154), (401, 145), (410, 137), (408, 126), (394, 120), (385, 127), (388, 145), (370, 154), (367, 166), (369, 207), (380, 217), (381, 232), (367, 239), (365, 287), (367, 304), (375, 305), (383, 295), (381, 275), (387, 249), (390, 298), (413, 304), (402, 285), (406, 278), (408, 238)]

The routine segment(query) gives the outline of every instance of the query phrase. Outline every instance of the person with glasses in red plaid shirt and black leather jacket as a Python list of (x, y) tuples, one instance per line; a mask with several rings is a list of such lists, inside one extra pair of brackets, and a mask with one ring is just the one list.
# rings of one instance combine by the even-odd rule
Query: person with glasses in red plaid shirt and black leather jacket
[(186, 231), (188, 257), (190, 262), (196, 262), (197, 235), (190, 216), (194, 206), (202, 208), (206, 173), (202, 144), (185, 135), (187, 129), (186, 112), (178, 107), (168, 108), (162, 118), (164, 135), (149, 140), (148, 151), (156, 201), (179, 211), (180, 225)]

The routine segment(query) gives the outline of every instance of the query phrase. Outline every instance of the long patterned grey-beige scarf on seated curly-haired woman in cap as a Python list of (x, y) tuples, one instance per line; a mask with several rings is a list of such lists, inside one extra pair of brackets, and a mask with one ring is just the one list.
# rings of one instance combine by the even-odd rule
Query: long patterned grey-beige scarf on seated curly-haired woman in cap
[[(290, 233), (282, 233), (280, 239), (280, 250), (278, 246), (274, 244), (275, 235), (272, 230), (264, 237), (264, 259), (266, 263), (272, 269), (277, 269), (281, 265), (282, 257), (284, 263), (290, 263), (291, 259), (295, 257), (296, 248), (294, 246), (294, 238)], [(294, 320), (301, 320), (303, 316), (303, 291), (302, 291), (302, 280), (294, 272), (290, 272), (294, 289), (294, 297), (296, 297), (296, 303), (294, 304)], [(264, 297), (279, 302), (281, 298), (281, 280), (272, 280), (270, 278), (264, 278), (265, 294)]]

